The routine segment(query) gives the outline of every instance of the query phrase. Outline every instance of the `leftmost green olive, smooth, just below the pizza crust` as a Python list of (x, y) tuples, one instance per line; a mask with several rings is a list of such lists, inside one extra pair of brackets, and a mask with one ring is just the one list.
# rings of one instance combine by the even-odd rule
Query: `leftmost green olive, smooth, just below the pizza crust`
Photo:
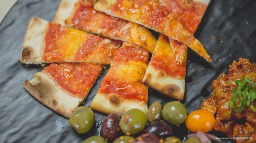
[(78, 107), (71, 114), (69, 123), (79, 134), (88, 132), (94, 123), (93, 110), (84, 106)]

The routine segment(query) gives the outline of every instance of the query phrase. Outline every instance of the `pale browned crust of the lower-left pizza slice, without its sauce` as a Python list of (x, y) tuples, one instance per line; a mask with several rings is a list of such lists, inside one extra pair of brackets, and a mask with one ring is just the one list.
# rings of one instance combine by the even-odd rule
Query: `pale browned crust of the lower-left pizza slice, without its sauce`
[(84, 100), (70, 95), (43, 71), (35, 73), (31, 81), (26, 80), (23, 87), (38, 101), (67, 118)]

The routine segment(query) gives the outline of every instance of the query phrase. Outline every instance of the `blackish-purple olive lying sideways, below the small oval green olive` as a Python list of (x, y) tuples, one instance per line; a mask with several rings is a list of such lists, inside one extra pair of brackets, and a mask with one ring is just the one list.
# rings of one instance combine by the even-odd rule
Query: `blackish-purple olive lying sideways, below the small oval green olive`
[(163, 121), (156, 121), (148, 125), (146, 132), (157, 135), (160, 138), (172, 135), (172, 127)]

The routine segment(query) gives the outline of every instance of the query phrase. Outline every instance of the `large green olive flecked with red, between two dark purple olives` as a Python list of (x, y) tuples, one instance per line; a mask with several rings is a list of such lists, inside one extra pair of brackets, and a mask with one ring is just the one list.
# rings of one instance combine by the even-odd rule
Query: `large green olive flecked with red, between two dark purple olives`
[(122, 115), (119, 126), (126, 135), (135, 135), (147, 124), (145, 113), (139, 109), (130, 109)]

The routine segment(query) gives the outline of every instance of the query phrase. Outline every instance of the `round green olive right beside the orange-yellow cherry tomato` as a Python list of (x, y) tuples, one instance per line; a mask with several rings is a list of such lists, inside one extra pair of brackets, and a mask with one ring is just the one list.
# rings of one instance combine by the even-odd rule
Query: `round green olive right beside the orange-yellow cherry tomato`
[(179, 125), (187, 118), (186, 107), (179, 101), (168, 102), (163, 107), (162, 116), (166, 122)]

